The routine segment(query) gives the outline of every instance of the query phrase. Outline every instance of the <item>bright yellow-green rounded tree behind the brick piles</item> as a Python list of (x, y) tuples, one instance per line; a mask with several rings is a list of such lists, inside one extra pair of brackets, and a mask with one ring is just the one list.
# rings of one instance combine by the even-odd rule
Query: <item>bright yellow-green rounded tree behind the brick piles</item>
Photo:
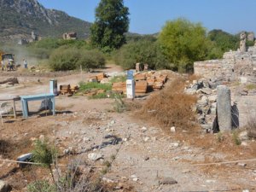
[(200, 23), (194, 24), (182, 18), (167, 21), (160, 32), (159, 42), (174, 70), (189, 70), (194, 61), (207, 58), (209, 40)]

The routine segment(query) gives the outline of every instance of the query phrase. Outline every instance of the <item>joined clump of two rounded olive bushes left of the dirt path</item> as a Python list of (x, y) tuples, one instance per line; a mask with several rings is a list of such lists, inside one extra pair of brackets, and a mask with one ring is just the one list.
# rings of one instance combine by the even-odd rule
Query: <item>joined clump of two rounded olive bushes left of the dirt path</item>
[(67, 46), (55, 49), (49, 57), (49, 67), (54, 71), (74, 70), (80, 66), (88, 70), (104, 67), (105, 62), (104, 55), (96, 49), (82, 50)]

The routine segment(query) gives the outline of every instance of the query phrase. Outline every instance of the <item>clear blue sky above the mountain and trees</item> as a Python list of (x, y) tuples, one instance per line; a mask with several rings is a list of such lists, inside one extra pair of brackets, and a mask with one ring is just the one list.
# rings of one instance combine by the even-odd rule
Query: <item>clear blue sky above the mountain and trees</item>
[[(38, 0), (48, 9), (93, 22), (100, 0)], [(130, 12), (129, 32), (160, 32), (167, 20), (179, 17), (200, 22), (208, 31), (256, 32), (256, 0), (124, 0)]]

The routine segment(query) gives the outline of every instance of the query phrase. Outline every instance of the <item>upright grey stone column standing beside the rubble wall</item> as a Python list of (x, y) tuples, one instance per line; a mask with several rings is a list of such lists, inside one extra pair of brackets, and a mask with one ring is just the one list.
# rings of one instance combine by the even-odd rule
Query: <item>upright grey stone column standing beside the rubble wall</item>
[(217, 95), (219, 131), (230, 131), (232, 128), (230, 88), (226, 85), (218, 85)]

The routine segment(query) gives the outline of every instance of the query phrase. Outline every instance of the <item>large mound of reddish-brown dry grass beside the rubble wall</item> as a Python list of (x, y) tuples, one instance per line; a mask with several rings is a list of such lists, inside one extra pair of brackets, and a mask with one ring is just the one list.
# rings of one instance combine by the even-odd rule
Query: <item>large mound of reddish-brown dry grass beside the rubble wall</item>
[(153, 119), (160, 125), (168, 127), (176, 126), (183, 130), (195, 127), (195, 113), (191, 107), (196, 102), (195, 96), (189, 96), (183, 92), (186, 79), (176, 79), (166, 88), (152, 95), (144, 103), (142, 113), (146, 118)]

